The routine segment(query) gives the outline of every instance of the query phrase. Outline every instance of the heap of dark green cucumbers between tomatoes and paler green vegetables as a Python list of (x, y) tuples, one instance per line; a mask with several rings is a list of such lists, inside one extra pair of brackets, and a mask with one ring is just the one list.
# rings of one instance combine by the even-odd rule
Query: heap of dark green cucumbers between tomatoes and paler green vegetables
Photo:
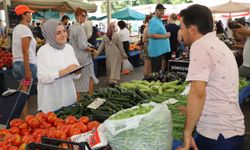
[[(88, 108), (87, 106), (94, 102), (96, 98), (103, 98), (106, 101), (96, 109)], [(103, 122), (112, 114), (126, 108), (131, 108), (141, 103), (149, 102), (148, 94), (144, 94), (138, 89), (117, 88), (101, 88), (96, 90), (93, 96), (85, 95), (80, 103), (63, 107), (56, 112), (60, 118), (65, 118), (68, 115), (73, 115), (79, 118), (83, 115), (89, 116), (92, 119)]]

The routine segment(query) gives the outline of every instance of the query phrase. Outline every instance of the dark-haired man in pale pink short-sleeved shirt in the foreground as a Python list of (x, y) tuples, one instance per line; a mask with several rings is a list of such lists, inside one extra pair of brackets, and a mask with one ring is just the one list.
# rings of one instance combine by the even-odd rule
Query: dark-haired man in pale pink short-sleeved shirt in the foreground
[[(181, 150), (241, 150), (245, 132), (239, 106), (239, 74), (232, 51), (216, 37), (209, 8), (180, 12), (184, 43), (190, 46), (184, 147)], [(196, 126), (197, 140), (192, 135)]]

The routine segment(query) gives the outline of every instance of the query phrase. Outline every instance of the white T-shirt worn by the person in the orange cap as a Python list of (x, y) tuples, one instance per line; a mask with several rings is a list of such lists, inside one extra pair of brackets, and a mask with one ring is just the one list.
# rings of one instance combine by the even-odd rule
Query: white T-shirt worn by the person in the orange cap
[(29, 63), (36, 64), (36, 40), (30, 28), (23, 24), (17, 25), (13, 30), (13, 35), (12, 35), (13, 62), (23, 61), (22, 38), (25, 37), (31, 38), (29, 46)]

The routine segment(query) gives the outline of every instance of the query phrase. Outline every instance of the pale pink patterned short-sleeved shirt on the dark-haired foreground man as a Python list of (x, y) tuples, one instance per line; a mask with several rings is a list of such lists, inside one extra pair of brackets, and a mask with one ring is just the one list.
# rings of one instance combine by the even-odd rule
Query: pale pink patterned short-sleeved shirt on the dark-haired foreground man
[(190, 48), (187, 81), (205, 81), (205, 104), (197, 123), (197, 132), (217, 139), (244, 135), (244, 116), (239, 106), (239, 73), (232, 51), (207, 33)]

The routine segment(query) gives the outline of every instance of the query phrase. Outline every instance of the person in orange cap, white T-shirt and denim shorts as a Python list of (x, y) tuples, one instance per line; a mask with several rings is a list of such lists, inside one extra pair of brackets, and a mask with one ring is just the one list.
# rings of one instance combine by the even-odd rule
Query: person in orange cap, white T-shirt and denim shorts
[[(32, 20), (31, 10), (26, 5), (15, 7), (15, 13), (20, 23), (14, 28), (12, 34), (13, 76), (22, 82), (21, 90), (28, 91), (31, 80), (36, 80), (36, 40), (29, 28)], [(24, 106), (23, 116), (28, 114), (28, 105)]]

